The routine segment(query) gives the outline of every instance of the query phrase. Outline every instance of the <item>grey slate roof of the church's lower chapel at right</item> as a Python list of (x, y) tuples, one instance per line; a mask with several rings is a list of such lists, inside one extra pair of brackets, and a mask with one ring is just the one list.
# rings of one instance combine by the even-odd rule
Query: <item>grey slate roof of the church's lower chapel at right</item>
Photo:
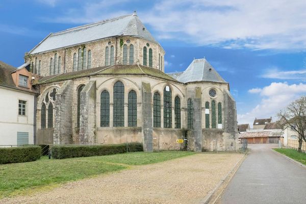
[(227, 83), (206, 59), (194, 59), (183, 72), (168, 73), (179, 82), (221, 82)]

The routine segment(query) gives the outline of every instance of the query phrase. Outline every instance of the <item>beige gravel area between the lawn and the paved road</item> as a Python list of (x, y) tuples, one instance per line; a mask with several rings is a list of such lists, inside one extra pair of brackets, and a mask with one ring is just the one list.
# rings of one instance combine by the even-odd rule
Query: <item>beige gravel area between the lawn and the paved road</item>
[(132, 166), (0, 203), (198, 203), (242, 156), (203, 153)]

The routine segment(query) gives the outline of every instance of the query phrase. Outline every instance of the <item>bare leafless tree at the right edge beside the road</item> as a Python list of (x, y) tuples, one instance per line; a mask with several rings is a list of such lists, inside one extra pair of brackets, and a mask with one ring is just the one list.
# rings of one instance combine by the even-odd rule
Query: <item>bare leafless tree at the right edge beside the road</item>
[(306, 142), (306, 96), (289, 104), (277, 116), (283, 125), (283, 129), (292, 128), (298, 134), (298, 151), (301, 152), (303, 140)]

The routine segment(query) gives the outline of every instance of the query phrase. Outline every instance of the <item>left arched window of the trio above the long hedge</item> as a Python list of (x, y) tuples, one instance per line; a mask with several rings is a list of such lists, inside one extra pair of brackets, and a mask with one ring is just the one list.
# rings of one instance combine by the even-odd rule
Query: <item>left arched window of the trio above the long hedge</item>
[(100, 126), (110, 126), (110, 94), (104, 90), (100, 96)]

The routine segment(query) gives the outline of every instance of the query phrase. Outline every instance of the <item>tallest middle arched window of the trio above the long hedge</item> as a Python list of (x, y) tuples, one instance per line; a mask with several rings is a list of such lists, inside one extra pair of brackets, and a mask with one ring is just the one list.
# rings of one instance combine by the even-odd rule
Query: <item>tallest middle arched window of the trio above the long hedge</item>
[(118, 81), (114, 84), (114, 127), (124, 126), (124, 85)]

